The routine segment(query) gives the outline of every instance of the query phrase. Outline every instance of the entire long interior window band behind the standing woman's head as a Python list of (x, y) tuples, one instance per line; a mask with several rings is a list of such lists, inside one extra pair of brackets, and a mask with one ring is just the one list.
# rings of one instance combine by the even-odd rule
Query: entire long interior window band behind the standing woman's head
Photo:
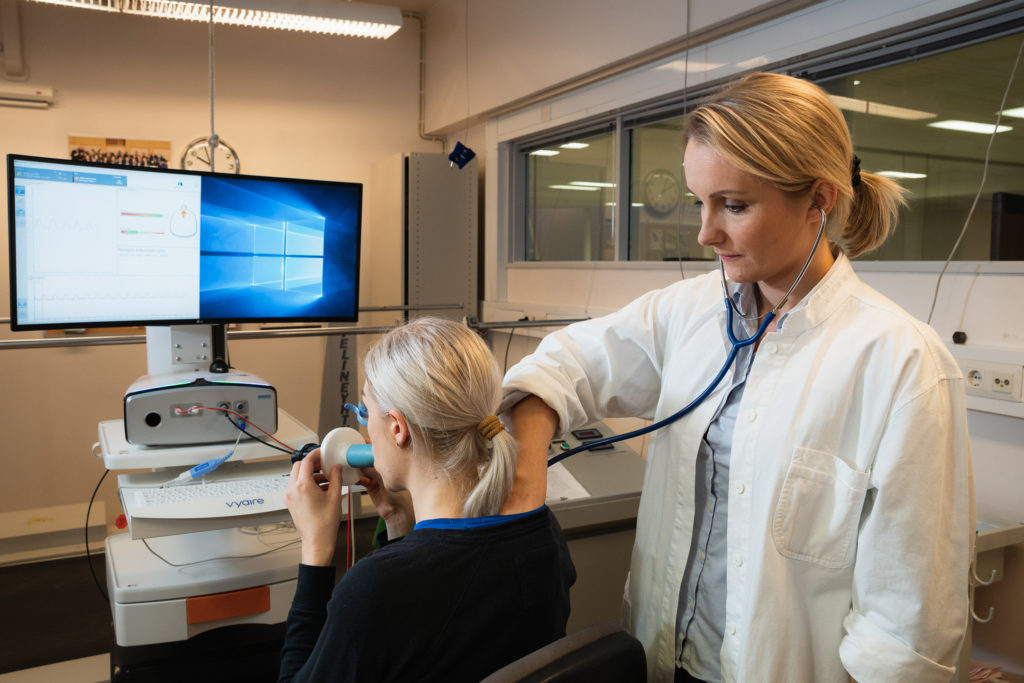
[[(833, 96), (861, 168), (908, 190), (896, 232), (861, 259), (946, 258), (985, 172), (1022, 27), (1024, 11), (1004, 13), (925, 32), (927, 38), (884, 41), (843, 63), (826, 56), (788, 71)], [(688, 93), (688, 104), (711, 91)], [(655, 108), (658, 113), (651, 114)], [(1024, 69), (1004, 109), (957, 260), (1024, 260)], [(526, 245), (521, 260), (713, 259), (697, 244), (699, 211), (686, 193), (684, 114), (678, 101), (647, 102), (642, 111), (607, 121), (610, 132), (563, 132), (558, 144), (520, 144), (518, 163), (527, 178), (518, 200), (525, 220), (516, 226)], [(616, 182), (622, 191), (615, 191)]]

